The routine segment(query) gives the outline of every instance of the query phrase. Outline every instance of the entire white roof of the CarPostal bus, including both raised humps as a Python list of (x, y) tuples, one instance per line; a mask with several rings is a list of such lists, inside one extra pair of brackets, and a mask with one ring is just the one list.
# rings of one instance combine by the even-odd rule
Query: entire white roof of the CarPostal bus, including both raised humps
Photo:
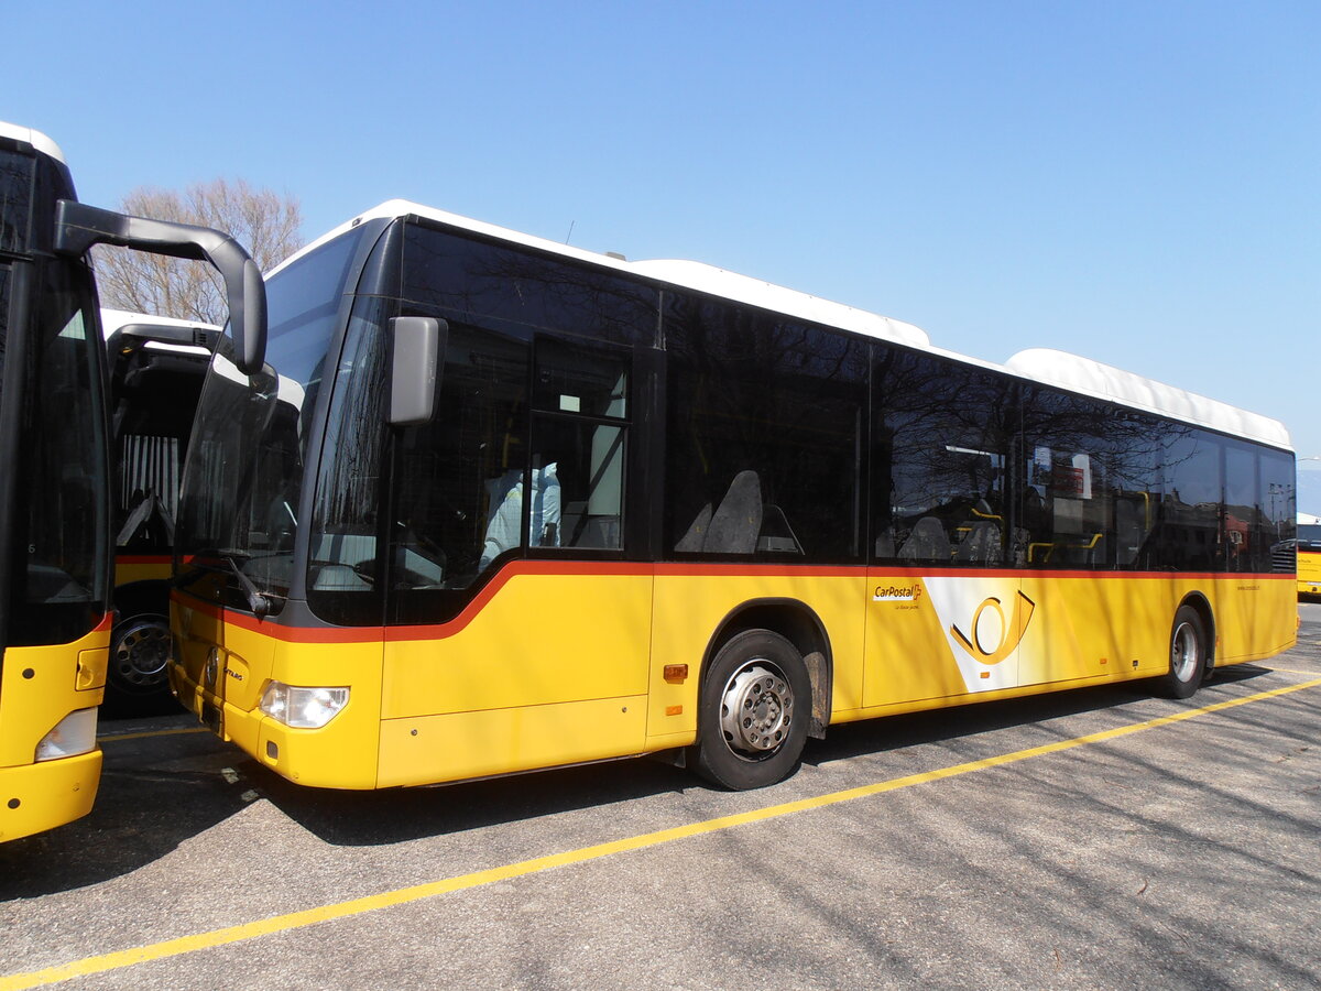
[(407, 200), (388, 200), (379, 206), (347, 221), (325, 235), (317, 238), (306, 247), (295, 252), (267, 277), (275, 275), (285, 266), (297, 260), (309, 251), (316, 250), (328, 240), (333, 240), (341, 234), (357, 227), (365, 221), (394, 219), (403, 217), (421, 217), (436, 221), (450, 227), (472, 231), (489, 238), (507, 240), (548, 254), (587, 262), (600, 268), (612, 268), (618, 272), (653, 281), (667, 283), (680, 288), (695, 289), (697, 292), (719, 296), (745, 303), (762, 309), (774, 311), (786, 316), (801, 317), (812, 322), (852, 330), (867, 337), (876, 337), (893, 344), (900, 344), (917, 350), (945, 355), (955, 361), (976, 365), (992, 371), (1008, 373), (1018, 378), (1054, 386), (1071, 392), (1090, 395), (1107, 402), (1122, 403), (1137, 410), (1169, 416), (1201, 427), (1219, 431), (1248, 440), (1269, 444), (1272, 447), (1292, 449), (1289, 432), (1283, 423), (1268, 416), (1248, 412), (1238, 407), (1209, 399), (1196, 392), (1188, 392), (1174, 386), (1168, 386), (1155, 379), (1110, 365), (1083, 358), (1077, 354), (1058, 351), (1046, 348), (1033, 348), (1018, 351), (1009, 358), (1005, 365), (971, 358), (964, 354), (935, 348), (925, 330), (913, 324), (892, 317), (882, 317), (877, 313), (856, 309), (841, 303), (832, 303), (782, 285), (762, 281), (746, 275), (738, 275), (724, 268), (708, 266), (701, 262), (687, 262), (675, 259), (651, 259), (629, 262), (618, 255), (602, 255), (584, 248), (560, 244), (553, 240), (538, 238), (531, 234), (498, 227), (493, 223), (474, 221), (468, 217), (436, 210), (429, 206), (413, 203)]

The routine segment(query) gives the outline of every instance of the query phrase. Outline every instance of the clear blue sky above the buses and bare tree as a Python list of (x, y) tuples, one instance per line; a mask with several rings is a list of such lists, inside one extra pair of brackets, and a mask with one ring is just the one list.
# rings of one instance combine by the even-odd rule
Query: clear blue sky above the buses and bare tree
[(87, 202), (242, 176), (297, 196), (308, 239), (391, 197), (572, 229), (979, 358), (1077, 351), (1281, 419), (1321, 456), (1317, 3), (49, 0), (4, 18), (0, 116), (54, 137)]

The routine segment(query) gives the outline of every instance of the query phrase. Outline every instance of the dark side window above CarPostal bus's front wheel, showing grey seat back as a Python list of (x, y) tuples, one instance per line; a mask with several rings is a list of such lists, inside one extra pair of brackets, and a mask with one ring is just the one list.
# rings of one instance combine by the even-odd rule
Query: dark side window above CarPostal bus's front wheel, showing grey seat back
[(860, 560), (868, 345), (787, 317), (666, 299), (666, 550)]

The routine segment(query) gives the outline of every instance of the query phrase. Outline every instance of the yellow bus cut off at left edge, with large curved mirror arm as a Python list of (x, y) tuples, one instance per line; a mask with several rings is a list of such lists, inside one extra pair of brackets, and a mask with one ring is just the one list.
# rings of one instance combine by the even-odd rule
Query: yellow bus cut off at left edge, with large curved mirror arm
[(264, 295), (242, 248), (79, 203), (54, 141), (0, 123), (0, 842), (87, 814), (100, 773), (112, 617), (95, 243), (211, 260), (239, 363), (262, 367)]

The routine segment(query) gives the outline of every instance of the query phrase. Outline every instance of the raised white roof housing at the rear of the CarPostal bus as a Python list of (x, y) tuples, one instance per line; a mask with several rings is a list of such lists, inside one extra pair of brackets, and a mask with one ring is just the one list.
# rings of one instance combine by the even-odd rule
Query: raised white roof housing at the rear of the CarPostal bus
[(1166, 386), (1164, 382), (1091, 358), (1053, 348), (1029, 348), (1009, 358), (1005, 369), (1044, 385), (1108, 399), (1272, 447), (1293, 449), (1289, 431), (1279, 420), (1176, 386)]

